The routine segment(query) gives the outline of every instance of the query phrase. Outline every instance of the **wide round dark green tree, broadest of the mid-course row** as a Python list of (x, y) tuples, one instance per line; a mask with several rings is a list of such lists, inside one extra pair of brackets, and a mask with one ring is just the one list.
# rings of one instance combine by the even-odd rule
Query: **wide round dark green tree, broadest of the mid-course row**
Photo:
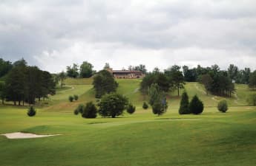
[(128, 99), (121, 94), (105, 94), (99, 103), (99, 114), (102, 117), (114, 118), (121, 115), (127, 105)]

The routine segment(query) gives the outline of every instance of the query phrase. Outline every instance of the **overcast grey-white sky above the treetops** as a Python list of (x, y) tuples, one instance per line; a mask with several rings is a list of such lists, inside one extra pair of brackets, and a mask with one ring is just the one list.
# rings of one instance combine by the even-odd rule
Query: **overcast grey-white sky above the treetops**
[(256, 69), (255, 0), (1, 0), (0, 58), (61, 72), (145, 64)]

